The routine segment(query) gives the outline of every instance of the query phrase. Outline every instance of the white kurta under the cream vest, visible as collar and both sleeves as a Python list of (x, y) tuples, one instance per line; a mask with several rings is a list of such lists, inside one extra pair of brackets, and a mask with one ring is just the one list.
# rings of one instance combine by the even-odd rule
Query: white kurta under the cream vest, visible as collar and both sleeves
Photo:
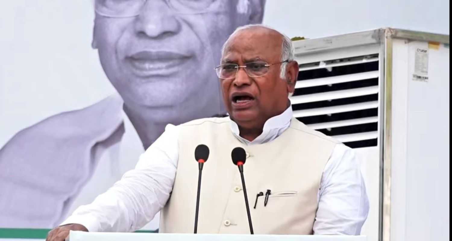
[[(253, 142), (242, 139), (233, 122), (231, 131), (247, 145), (269, 142), (287, 129), (291, 118), (291, 107), (270, 118)], [(179, 160), (178, 135), (178, 127), (168, 125), (140, 156), (134, 170), (62, 224), (80, 223), (92, 232), (131, 232), (146, 225), (165, 206), (172, 190)], [(334, 147), (321, 177), (314, 234), (359, 234), (369, 211), (359, 163), (352, 149), (342, 144)]]

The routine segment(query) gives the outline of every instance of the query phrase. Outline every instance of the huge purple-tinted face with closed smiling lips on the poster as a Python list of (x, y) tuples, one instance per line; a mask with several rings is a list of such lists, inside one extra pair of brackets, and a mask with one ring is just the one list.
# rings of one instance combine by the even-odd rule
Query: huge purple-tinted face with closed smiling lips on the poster
[[(105, 9), (130, 7), (120, 0), (99, 3)], [(236, 5), (236, 0), (147, 0), (138, 16), (123, 18), (105, 17), (96, 8), (93, 43), (125, 103), (171, 109), (175, 117), (193, 106), (217, 113), (221, 101), (213, 68), (222, 43), (249, 19)]]

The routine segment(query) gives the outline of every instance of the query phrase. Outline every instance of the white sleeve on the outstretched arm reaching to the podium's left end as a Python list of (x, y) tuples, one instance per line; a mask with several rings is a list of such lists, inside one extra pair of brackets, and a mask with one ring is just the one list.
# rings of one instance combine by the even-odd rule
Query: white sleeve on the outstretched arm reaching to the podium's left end
[(170, 197), (179, 158), (178, 138), (178, 127), (167, 125), (141, 154), (135, 169), (93, 203), (77, 208), (61, 225), (79, 223), (90, 232), (133, 232), (145, 226)]

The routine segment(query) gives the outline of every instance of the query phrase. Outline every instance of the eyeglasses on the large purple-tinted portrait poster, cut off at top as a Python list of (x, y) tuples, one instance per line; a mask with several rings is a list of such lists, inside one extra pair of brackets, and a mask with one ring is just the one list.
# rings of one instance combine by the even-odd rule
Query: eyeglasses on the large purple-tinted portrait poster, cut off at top
[[(129, 18), (140, 15), (148, 0), (95, 0), (96, 13), (111, 18)], [(155, 0), (151, 0), (155, 1)], [(160, 0), (161, 1), (161, 0)], [(201, 14), (213, 12), (214, 4), (220, 0), (163, 0), (178, 14)]]

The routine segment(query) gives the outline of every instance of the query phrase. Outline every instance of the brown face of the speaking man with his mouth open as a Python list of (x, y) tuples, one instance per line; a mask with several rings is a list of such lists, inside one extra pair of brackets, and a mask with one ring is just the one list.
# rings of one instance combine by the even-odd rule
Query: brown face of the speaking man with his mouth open
[[(244, 66), (254, 61), (281, 62), (282, 37), (266, 28), (251, 28), (237, 33), (227, 44), (222, 64)], [(223, 101), (230, 116), (246, 128), (263, 125), (268, 118), (287, 109), (287, 96), (293, 91), (280, 77), (280, 64), (269, 66), (267, 74), (250, 77), (240, 68), (233, 79), (220, 79)]]

